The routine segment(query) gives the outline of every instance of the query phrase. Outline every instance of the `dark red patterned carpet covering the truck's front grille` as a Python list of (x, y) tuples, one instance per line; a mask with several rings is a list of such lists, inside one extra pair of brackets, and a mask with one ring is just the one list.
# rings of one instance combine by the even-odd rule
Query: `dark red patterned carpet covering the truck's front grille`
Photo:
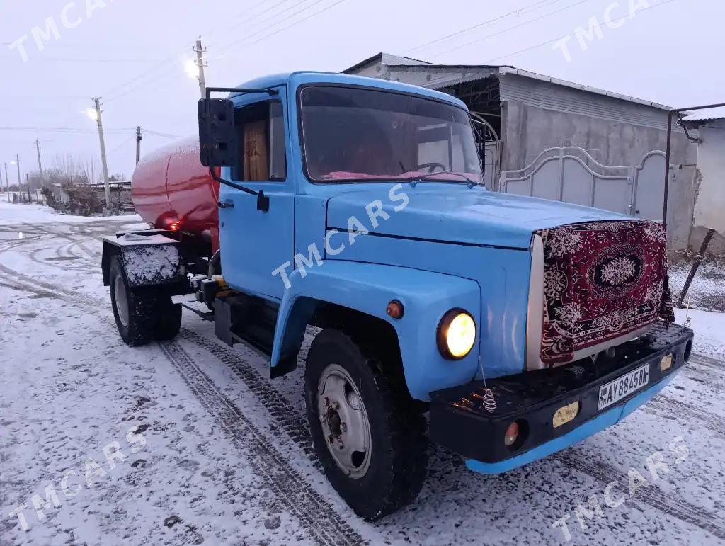
[[(533, 368), (593, 355), (642, 334), (657, 320), (667, 268), (661, 224), (571, 224), (537, 231), (537, 238), (543, 247), (538, 274), (544, 305), (540, 365)], [(530, 304), (529, 328), (537, 326)], [(529, 369), (531, 356), (527, 351)]]

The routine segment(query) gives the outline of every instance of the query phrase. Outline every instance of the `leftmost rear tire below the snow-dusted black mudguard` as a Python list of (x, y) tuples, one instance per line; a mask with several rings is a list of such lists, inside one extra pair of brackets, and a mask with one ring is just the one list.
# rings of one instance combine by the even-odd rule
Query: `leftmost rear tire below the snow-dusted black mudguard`
[(109, 286), (113, 316), (121, 339), (131, 347), (150, 342), (154, 333), (156, 297), (131, 291), (117, 256), (111, 259)]

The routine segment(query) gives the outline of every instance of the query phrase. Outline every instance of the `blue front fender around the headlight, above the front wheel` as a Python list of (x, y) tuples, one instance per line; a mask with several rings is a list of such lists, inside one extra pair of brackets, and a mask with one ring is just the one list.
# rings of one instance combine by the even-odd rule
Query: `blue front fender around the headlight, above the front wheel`
[[(275, 330), (273, 367), (280, 363), (286, 349), (301, 340), (315, 302), (329, 302), (392, 325), (398, 336), (408, 390), (418, 400), (430, 400), (431, 391), (463, 384), (476, 375), (479, 339), (461, 360), (444, 359), (436, 345), (438, 323), (454, 307), (467, 310), (477, 325), (481, 323), (481, 289), (476, 281), (341, 260), (325, 261), (304, 273), (298, 269), (289, 276), (290, 286), (284, 293)], [(398, 320), (386, 314), (392, 299), (398, 299), (405, 309)]]

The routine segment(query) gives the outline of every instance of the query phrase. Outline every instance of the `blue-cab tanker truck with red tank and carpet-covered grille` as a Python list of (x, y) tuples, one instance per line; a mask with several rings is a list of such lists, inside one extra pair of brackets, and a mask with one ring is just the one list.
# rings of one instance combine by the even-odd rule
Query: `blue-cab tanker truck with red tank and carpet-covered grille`
[(104, 239), (118, 331), (172, 339), (187, 307), (274, 379), (315, 327), (300, 394), (358, 516), (415, 500), (429, 442), (510, 471), (617, 423), (689, 359), (663, 226), (489, 191), (454, 96), (298, 72), (208, 88), (198, 111), (198, 138), (133, 175), (149, 229)]

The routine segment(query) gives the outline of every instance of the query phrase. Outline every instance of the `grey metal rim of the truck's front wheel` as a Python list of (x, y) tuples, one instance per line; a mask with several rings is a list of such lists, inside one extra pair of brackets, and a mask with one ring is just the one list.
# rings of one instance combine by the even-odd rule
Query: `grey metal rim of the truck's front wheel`
[(355, 382), (340, 365), (328, 365), (320, 376), (318, 413), (337, 466), (350, 478), (365, 476), (373, 443), (368, 412)]

